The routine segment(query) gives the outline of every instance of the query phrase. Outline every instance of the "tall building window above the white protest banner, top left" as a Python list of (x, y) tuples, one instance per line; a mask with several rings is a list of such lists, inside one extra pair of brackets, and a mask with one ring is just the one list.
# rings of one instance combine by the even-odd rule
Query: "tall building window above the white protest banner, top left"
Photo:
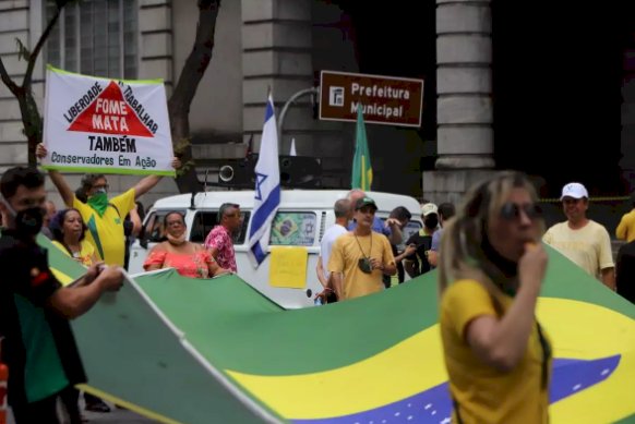
[[(46, 22), (56, 11), (46, 3)], [(46, 45), (46, 61), (86, 75), (137, 77), (137, 5), (133, 0), (71, 2)]]

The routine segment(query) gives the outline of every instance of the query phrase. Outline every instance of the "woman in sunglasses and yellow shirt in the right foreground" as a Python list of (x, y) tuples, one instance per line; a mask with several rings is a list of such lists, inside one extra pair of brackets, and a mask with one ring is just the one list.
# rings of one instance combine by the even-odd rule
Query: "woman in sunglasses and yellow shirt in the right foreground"
[(445, 227), (440, 326), (454, 423), (547, 423), (551, 348), (535, 312), (548, 256), (528, 179), (499, 172)]

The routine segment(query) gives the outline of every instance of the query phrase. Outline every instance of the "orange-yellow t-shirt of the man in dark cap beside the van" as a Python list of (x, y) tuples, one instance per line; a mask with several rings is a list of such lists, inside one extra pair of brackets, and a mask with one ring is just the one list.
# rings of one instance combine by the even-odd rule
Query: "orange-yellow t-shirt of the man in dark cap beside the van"
[(359, 259), (367, 256), (381, 258), (384, 265), (395, 264), (391, 243), (384, 234), (372, 231), (370, 235), (358, 235), (357, 240), (359, 244), (352, 232), (342, 234), (333, 243), (328, 258), (328, 272), (344, 272), (343, 300), (375, 293), (385, 288), (381, 269), (373, 269), (371, 274), (362, 272), (358, 267)]

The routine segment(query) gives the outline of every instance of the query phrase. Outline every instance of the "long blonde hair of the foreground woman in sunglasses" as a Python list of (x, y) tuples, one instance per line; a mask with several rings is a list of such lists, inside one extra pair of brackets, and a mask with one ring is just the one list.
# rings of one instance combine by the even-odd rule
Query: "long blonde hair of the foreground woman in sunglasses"
[[(488, 223), (500, 214), (513, 189), (525, 189), (534, 203), (538, 195), (524, 173), (499, 171), (494, 175), (474, 185), (443, 230), (441, 255), (439, 255), (439, 294), (459, 279), (480, 282), (494, 294), (499, 289), (494, 281), (503, 278), (501, 270), (483, 252)], [(538, 220), (540, 234), (544, 222)]]

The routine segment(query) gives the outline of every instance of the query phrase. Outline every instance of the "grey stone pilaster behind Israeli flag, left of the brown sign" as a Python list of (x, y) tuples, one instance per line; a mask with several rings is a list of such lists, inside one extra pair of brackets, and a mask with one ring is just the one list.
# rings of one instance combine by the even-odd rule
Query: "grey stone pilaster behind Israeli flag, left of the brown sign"
[[(276, 118), (296, 93), (312, 87), (310, 0), (242, 0), (243, 138), (253, 135), (260, 149), (267, 87), (273, 89)], [(288, 155), (291, 135), (298, 155), (312, 156), (311, 98), (299, 98), (287, 111), (279, 154)]]

